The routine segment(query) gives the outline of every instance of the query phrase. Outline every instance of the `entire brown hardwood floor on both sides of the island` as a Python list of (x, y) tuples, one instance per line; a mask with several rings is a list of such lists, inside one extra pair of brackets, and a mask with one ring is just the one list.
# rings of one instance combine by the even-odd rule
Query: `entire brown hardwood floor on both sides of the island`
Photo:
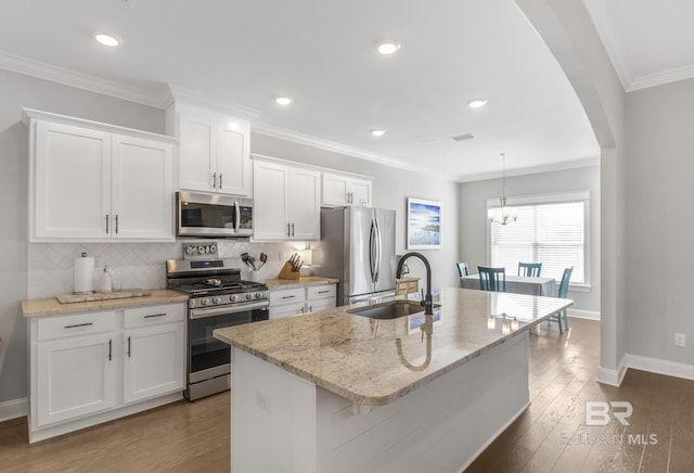
[[(601, 385), (600, 324), (570, 323), (530, 337), (531, 405), (466, 471), (691, 472), (694, 382), (629, 370)], [(611, 400), (631, 402), (631, 425), (586, 426), (586, 401)], [(16, 419), (0, 423), (0, 471), (229, 472), (229, 393), (34, 445)]]

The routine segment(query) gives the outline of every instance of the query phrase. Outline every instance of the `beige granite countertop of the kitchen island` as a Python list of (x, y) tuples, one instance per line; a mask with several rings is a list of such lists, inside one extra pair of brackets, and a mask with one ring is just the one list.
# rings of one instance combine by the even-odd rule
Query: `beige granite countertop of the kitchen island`
[[(375, 320), (345, 311), (374, 303), (218, 329), (214, 335), (347, 399), (381, 406), (525, 335), (530, 327), (573, 304), (457, 287), (441, 289), (435, 303), (440, 307), (434, 309), (428, 325), (430, 337), (420, 328), (423, 314)], [(501, 328), (504, 312), (519, 321), (519, 328), (507, 334)], [(490, 314), (497, 317), (493, 329), (488, 329)]]

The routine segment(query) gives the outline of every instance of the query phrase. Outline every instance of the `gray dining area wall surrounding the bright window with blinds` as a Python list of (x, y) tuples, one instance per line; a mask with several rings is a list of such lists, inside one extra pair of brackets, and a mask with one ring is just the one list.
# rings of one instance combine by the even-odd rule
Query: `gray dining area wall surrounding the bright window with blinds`
[[(501, 193), (501, 179), (490, 179), (460, 184), (460, 255), (471, 268), (488, 265), (487, 260), (487, 199)], [(571, 309), (582, 316), (600, 314), (600, 167), (582, 167), (553, 172), (540, 172), (506, 178), (506, 195), (590, 191), (590, 281), (584, 291), (569, 291), (574, 299)], [(591, 314), (584, 314), (584, 311)], [(570, 312), (570, 310), (569, 310)]]

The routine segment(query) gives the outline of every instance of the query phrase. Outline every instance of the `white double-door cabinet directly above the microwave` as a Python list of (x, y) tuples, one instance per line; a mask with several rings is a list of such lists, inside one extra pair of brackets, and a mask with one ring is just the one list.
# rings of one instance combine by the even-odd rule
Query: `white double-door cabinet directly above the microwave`
[(250, 195), (250, 127), (247, 120), (171, 105), (167, 131), (179, 138), (179, 188)]

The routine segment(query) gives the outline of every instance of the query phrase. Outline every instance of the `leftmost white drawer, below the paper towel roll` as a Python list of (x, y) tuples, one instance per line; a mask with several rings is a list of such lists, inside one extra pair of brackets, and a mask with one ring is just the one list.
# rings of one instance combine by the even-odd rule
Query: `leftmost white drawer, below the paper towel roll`
[(37, 321), (38, 340), (63, 338), (108, 332), (116, 328), (116, 312), (86, 312), (48, 317)]

